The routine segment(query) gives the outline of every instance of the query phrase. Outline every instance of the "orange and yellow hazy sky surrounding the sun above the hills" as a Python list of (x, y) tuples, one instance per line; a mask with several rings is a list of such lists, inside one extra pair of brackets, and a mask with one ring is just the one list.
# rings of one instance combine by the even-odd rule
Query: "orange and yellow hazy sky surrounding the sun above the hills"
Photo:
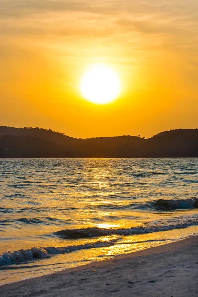
[[(198, 0), (0, 0), (0, 125), (73, 137), (198, 127)], [(118, 99), (88, 102), (91, 63)]]

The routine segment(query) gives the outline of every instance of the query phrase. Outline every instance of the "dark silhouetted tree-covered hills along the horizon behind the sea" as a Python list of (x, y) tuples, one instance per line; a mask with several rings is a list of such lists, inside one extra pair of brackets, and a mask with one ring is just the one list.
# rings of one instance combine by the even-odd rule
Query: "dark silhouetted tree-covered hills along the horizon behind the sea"
[(0, 158), (34, 157), (198, 157), (198, 129), (164, 131), (148, 139), (77, 139), (51, 129), (0, 126)]

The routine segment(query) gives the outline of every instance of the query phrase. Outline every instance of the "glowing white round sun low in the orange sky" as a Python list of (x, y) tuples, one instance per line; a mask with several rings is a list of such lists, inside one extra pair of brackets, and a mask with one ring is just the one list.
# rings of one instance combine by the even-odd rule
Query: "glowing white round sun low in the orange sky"
[(106, 64), (93, 64), (81, 81), (83, 96), (97, 104), (107, 104), (118, 97), (121, 82), (118, 73)]

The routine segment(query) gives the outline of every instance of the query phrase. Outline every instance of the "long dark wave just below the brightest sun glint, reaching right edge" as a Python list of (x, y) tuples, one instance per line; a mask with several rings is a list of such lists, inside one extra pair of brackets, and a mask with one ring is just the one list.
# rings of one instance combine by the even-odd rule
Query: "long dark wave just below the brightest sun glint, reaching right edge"
[(81, 229), (66, 229), (57, 231), (54, 234), (63, 239), (77, 239), (77, 238), (93, 238), (97, 236), (108, 236), (108, 235), (137, 235), (137, 234), (146, 234), (159, 231), (168, 231), (173, 229), (182, 229), (189, 226), (198, 224), (198, 216), (194, 217), (182, 217), (163, 221), (152, 221), (144, 223), (141, 226), (131, 227), (131, 228), (98, 228), (98, 227), (88, 227)]

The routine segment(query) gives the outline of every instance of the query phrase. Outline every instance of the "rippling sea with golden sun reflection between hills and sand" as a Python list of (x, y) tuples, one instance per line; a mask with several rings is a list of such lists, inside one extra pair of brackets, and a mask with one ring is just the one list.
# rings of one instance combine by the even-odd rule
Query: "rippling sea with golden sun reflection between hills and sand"
[(198, 234), (198, 159), (0, 159), (0, 285)]

